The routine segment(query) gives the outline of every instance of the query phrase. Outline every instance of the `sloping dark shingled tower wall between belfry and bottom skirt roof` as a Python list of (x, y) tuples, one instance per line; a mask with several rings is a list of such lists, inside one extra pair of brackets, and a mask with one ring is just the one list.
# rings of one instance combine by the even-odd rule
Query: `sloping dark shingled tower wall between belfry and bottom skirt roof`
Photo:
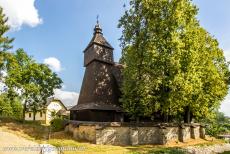
[(113, 65), (98, 61), (93, 61), (87, 66), (78, 104), (118, 103), (118, 97), (115, 96), (116, 85), (112, 76), (112, 68)]

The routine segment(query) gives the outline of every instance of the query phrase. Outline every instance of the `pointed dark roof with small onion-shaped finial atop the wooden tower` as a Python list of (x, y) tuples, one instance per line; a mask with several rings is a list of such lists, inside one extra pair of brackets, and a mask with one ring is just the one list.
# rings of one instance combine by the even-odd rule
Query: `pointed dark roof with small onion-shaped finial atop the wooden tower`
[(86, 49), (84, 50), (84, 52), (93, 44), (98, 44), (98, 45), (113, 49), (113, 47), (104, 38), (103, 33), (102, 33), (102, 29), (101, 29), (98, 21), (97, 21), (97, 24), (94, 27), (93, 38), (89, 42), (89, 44), (86, 47)]

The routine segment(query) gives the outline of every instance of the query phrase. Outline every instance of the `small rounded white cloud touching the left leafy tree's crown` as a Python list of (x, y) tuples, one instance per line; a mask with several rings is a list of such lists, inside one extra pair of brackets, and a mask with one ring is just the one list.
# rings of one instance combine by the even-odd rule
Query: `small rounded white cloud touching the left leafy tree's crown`
[(62, 70), (61, 62), (55, 57), (46, 58), (43, 63), (47, 64), (55, 72), (60, 72)]

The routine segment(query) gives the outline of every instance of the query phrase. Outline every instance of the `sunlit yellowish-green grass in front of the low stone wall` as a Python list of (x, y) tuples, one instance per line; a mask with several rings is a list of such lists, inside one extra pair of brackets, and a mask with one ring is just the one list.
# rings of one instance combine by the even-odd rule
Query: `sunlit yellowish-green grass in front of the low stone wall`
[[(51, 133), (50, 139), (48, 140), (49, 127), (40, 125), (34, 122), (12, 122), (2, 121), (0, 122), (0, 129), (8, 131), (29, 140), (36, 141), (43, 144), (51, 144), (56, 147), (72, 146), (79, 149), (78, 153), (106, 153), (106, 154), (141, 154), (141, 153), (154, 153), (154, 154), (183, 154), (182, 148), (189, 145), (212, 145), (223, 143), (222, 140), (209, 138), (208, 140), (190, 140), (186, 143), (172, 142), (168, 145), (140, 145), (140, 146), (112, 146), (112, 145), (95, 145), (85, 142), (78, 142), (72, 138), (70, 134), (61, 132)], [(76, 151), (66, 151), (65, 154), (74, 154)]]

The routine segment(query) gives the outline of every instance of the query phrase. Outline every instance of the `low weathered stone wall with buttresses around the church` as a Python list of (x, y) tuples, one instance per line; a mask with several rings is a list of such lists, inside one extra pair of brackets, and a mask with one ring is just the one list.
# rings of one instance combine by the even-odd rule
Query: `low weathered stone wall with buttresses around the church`
[(132, 124), (70, 122), (65, 128), (79, 141), (110, 145), (167, 144), (205, 138), (205, 129), (199, 124)]

